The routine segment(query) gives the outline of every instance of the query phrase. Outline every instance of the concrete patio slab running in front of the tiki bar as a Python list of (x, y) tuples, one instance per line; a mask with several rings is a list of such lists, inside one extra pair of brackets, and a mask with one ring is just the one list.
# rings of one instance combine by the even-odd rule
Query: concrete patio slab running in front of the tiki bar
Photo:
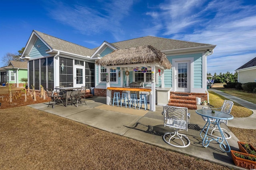
[[(34, 104), (30, 105), (30, 107), (144, 143), (188, 154), (203, 160), (209, 160), (210, 162), (222, 164), (230, 168), (239, 169), (239, 167), (234, 165), (231, 154), (222, 152), (218, 144), (210, 143), (209, 147), (202, 147), (202, 139), (199, 133), (205, 121), (203, 121), (200, 115), (195, 113), (195, 110), (188, 111), (191, 114), (188, 132), (182, 131), (182, 133), (188, 136), (191, 144), (189, 147), (180, 149), (167, 145), (162, 139), (162, 135), (166, 131), (169, 131), (169, 128), (163, 125), (162, 106), (156, 106), (156, 111), (148, 111), (144, 116), (141, 116), (122, 113), (122, 109), (127, 108), (118, 108), (115, 111), (104, 109), (104, 107), (99, 108), (106, 104), (106, 97), (93, 96), (86, 100), (87, 105), (79, 105), (79, 107), (57, 105), (52, 109), (52, 107), (47, 107), (47, 104)], [(201, 107), (202, 105), (198, 105), (198, 109)], [(135, 113), (136, 111), (134, 110)], [(222, 124), (221, 126), (227, 129), (232, 135), (232, 138), (228, 139), (231, 149), (238, 150), (238, 139), (225, 125)]]

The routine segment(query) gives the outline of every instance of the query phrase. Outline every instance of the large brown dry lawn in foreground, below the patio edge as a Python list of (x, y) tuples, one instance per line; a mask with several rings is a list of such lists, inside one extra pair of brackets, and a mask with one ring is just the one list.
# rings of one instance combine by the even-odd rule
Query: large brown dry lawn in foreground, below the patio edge
[(27, 106), (0, 117), (1, 169), (229, 169)]

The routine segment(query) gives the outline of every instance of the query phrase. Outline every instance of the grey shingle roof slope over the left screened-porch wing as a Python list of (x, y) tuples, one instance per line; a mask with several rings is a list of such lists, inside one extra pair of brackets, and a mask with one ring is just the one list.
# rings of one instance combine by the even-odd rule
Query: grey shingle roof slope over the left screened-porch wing
[(72, 54), (91, 56), (94, 50), (34, 30), (52, 49)]

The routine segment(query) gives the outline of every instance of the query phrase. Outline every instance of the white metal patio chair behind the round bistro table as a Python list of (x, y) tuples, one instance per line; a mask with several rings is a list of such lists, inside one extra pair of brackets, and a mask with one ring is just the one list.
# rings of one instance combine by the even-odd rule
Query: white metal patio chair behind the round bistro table
[[(202, 107), (202, 109), (212, 109), (212, 110), (218, 110), (218, 111), (222, 111), (224, 113), (231, 113), (231, 109), (233, 107), (234, 103), (231, 100), (224, 100), (223, 105), (219, 108), (211, 108), (211, 107)], [(204, 121), (207, 121), (207, 117), (202, 116), (202, 118), (204, 119)], [(210, 122), (213, 124), (212, 127), (210, 127), (212, 129), (211, 134), (214, 137), (217, 137), (216, 135), (213, 135), (214, 131), (216, 132), (220, 132), (220, 130), (218, 129), (218, 126), (216, 125), (216, 119), (212, 119), (210, 118)], [(225, 123), (226, 125), (228, 125), (228, 120), (220, 120), (220, 123)], [(228, 131), (224, 128), (221, 128), (222, 132), (224, 132), (225, 138), (226, 139), (230, 139), (231, 135), (228, 133)], [(204, 129), (205, 132), (205, 129)]]

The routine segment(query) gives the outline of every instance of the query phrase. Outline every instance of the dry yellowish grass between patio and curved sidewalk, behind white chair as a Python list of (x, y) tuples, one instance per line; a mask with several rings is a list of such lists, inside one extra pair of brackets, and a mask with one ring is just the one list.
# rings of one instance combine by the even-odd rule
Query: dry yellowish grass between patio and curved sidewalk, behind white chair
[[(209, 100), (210, 104), (214, 106), (214, 108), (219, 108), (222, 106), (224, 100), (229, 100), (223, 96), (220, 96), (219, 94), (216, 94), (215, 92), (209, 91)], [(234, 102), (234, 105), (231, 110), (231, 115), (234, 117), (248, 117), (252, 115), (252, 111), (250, 109), (247, 109), (246, 107)]]

